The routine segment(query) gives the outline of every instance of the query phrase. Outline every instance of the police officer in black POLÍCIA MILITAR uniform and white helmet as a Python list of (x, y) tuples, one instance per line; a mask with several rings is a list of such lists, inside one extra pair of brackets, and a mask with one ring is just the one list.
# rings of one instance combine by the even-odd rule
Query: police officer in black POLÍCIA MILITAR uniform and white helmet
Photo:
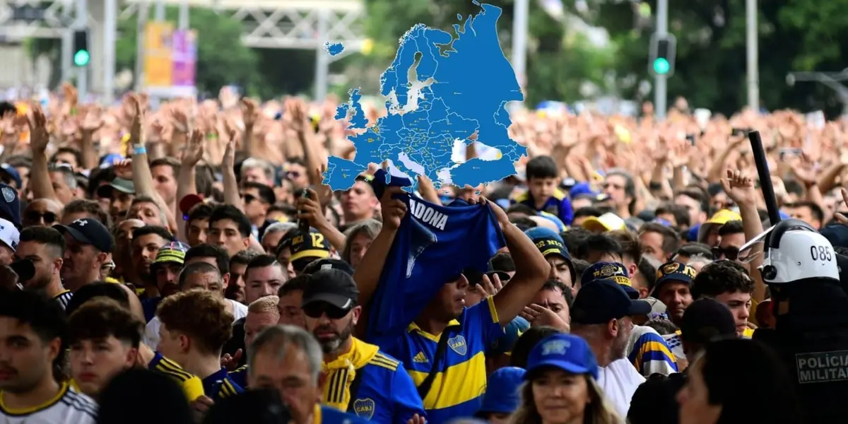
[(848, 294), (834, 248), (805, 222), (783, 220), (765, 234), (764, 254), (760, 272), (776, 325), (754, 338), (772, 345), (795, 377), (807, 422), (845, 420)]

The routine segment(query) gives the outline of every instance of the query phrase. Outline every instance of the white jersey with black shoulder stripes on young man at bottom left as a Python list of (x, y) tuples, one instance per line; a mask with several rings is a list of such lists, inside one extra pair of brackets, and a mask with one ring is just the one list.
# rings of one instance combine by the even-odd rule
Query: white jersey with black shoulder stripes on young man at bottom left
[(28, 410), (10, 410), (0, 397), (0, 422), (3, 424), (94, 424), (98, 404), (65, 383), (56, 397)]

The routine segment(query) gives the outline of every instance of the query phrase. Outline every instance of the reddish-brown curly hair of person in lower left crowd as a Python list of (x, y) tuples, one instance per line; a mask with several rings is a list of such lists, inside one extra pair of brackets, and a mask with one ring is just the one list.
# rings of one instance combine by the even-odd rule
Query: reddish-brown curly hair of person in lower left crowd
[(204, 354), (220, 354), (224, 343), (232, 338), (232, 313), (226, 310), (224, 299), (207, 290), (168, 296), (159, 304), (156, 316), (168, 331), (192, 338)]

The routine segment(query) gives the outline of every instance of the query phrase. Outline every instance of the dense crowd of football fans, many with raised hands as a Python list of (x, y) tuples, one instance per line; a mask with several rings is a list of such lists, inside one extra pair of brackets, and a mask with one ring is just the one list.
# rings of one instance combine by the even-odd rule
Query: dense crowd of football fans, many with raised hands
[[(149, 103), (70, 85), (45, 109), (0, 103), (4, 422), (827, 416), (798, 388), (817, 369), (766, 340), (801, 326), (792, 282), (848, 304), (845, 121), (520, 109), (528, 155), (504, 181), (373, 164), (333, 192), (326, 158), (355, 149), (332, 98)], [(792, 223), (765, 243), (750, 131)], [(475, 140), (465, 159), (488, 154)], [(816, 266), (780, 265), (797, 253), (779, 237)]]

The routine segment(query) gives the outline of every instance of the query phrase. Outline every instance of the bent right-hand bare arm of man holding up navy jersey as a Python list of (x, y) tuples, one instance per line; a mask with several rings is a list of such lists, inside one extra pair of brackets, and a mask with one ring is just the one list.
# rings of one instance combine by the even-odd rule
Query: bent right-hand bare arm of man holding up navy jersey
[(501, 326), (505, 326), (518, 316), (542, 289), (545, 280), (550, 276), (550, 264), (544, 260), (544, 256), (530, 237), (510, 222), (504, 209), (491, 204), (488, 199), (480, 198), (480, 200), (488, 204), (498, 218), (500, 227), (504, 231), (506, 247), (510, 249), (512, 260), (516, 263), (515, 276), (512, 276), (509, 284), (494, 295), (494, 308), (498, 311), (498, 320)]

